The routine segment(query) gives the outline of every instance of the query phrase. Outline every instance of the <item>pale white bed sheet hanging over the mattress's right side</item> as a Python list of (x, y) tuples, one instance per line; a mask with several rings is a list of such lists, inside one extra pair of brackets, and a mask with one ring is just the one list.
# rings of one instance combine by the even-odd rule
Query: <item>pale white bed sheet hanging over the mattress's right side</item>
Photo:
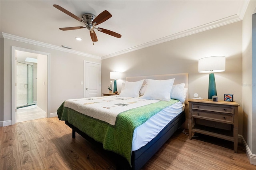
[(174, 103), (135, 128), (132, 137), (132, 151), (138, 150), (150, 142), (172, 119), (182, 113), (184, 108), (184, 103), (180, 101)]

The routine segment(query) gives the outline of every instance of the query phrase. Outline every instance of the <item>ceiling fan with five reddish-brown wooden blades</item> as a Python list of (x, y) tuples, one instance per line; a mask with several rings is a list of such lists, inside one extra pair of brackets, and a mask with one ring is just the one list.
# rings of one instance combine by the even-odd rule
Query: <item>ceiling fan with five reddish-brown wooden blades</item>
[(86, 13), (82, 16), (82, 19), (79, 18), (78, 16), (72, 14), (71, 12), (69, 12), (68, 10), (65, 10), (64, 8), (62, 8), (59, 5), (54, 4), (53, 5), (55, 8), (57, 8), (58, 10), (64, 12), (65, 14), (71, 16), (72, 18), (82, 22), (85, 24), (85, 27), (83, 26), (77, 26), (77, 27), (66, 27), (66, 28), (59, 28), (62, 31), (67, 31), (67, 30), (77, 30), (77, 29), (81, 29), (81, 28), (87, 28), (90, 31), (90, 36), (92, 39), (92, 42), (97, 42), (98, 38), (96, 36), (96, 33), (94, 32), (94, 29), (103, 32), (105, 34), (108, 34), (110, 36), (114, 36), (116, 38), (121, 38), (121, 35), (110, 31), (110, 30), (106, 30), (104, 28), (96, 28), (96, 26), (98, 24), (101, 24), (102, 22), (105, 22), (106, 20), (108, 20), (110, 17), (112, 17), (112, 15), (107, 11), (104, 10), (102, 13), (100, 13), (98, 16), (95, 16), (94, 14), (90, 14), (90, 13)]

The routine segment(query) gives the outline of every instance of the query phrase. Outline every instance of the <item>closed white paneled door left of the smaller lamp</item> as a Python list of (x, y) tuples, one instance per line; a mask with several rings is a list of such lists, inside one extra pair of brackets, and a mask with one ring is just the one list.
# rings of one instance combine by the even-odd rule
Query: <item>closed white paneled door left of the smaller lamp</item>
[(101, 64), (84, 61), (84, 97), (101, 96)]

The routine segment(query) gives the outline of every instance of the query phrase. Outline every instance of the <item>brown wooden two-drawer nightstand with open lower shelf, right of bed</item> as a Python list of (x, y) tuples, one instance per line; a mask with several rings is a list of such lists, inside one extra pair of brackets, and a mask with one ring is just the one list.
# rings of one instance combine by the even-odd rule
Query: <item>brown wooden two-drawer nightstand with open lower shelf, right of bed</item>
[[(189, 99), (189, 138), (192, 132), (198, 132), (230, 140), (234, 142), (234, 152), (237, 153), (238, 144), (238, 106), (236, 102), (211, 101), (207, 99)], [(233, 125), (233, 130), (197, 125), (194, 119), (204, 119), (213, 122), (220, 122)], [(193, 127), (192, 127), (193, 126)]]

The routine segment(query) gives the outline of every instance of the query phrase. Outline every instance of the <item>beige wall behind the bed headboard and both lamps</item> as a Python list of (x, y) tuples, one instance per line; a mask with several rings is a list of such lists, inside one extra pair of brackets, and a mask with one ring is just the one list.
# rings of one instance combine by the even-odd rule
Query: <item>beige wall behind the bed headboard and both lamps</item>
[(108, 93), (110, 71), (122, 72), (118, 91), (125, 77), (188, 73), (188, 97), (207, 98), (209, 74), (198, 73), (198, 59), (214, 55), (226, 56), (226, 71), (215, 73), (217, 92), (220, 100), (224, 93), (234, 94), (241, 105), (242, 134), (242, 21), (102, 60), (102, 93)]

